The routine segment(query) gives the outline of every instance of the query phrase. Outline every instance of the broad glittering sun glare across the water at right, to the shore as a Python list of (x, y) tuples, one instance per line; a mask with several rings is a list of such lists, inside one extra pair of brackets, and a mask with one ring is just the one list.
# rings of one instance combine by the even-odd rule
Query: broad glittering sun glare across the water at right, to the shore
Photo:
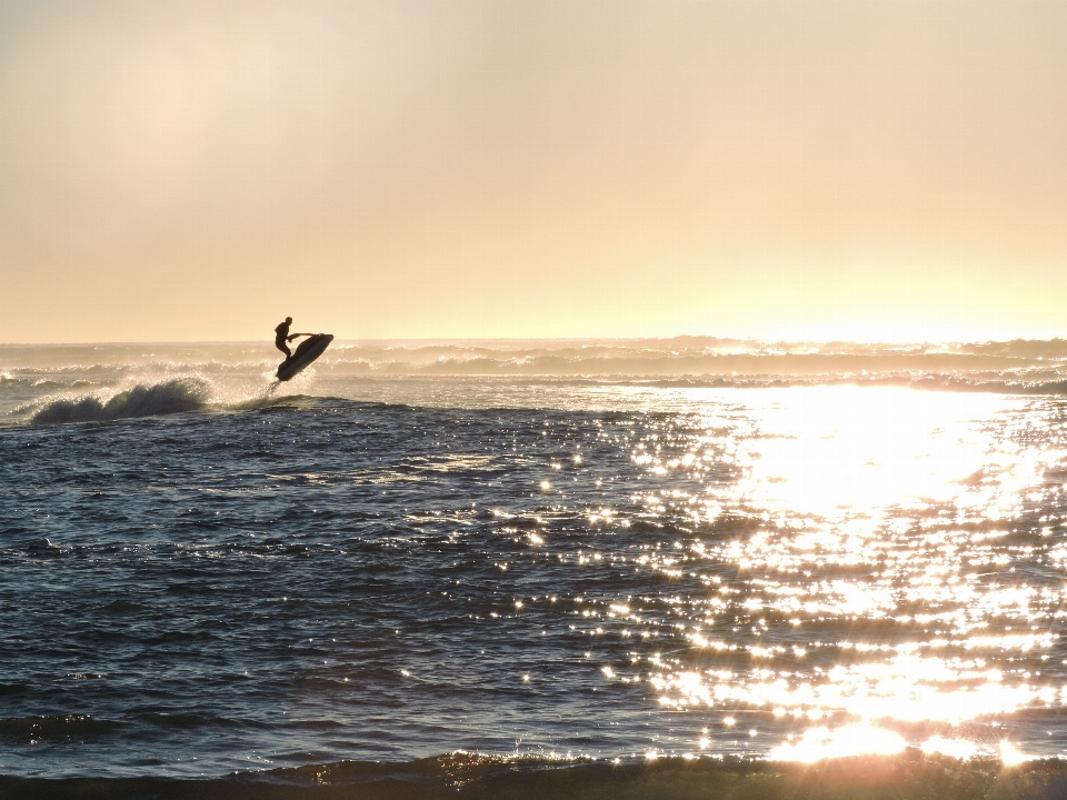
[[(1045, 474), (1065, 457), (1019, 427), (1027, 401), (837, 387), (744, 400), (676, 433), (684, 453), (635, 451), (652, 474), (704, 482), (650, 497), (649, 513), (686, 510), (709, 531), (685, 559), (648, 560), (707, 586), (691, 651), (651, 676), (664, 708), (789, 723), (771, 757), (810, 761), (907, 744), (969, 758), (984, 720), (1063, 707), (1067, 688), (1041, 670), (1063, 581), (1013, 569), (1035, 539), (1019, 520), (1059, 500)], [(712, 479), (724, 462), (736, 481)], [(731, 518), (742, 532), (717, 533)]]

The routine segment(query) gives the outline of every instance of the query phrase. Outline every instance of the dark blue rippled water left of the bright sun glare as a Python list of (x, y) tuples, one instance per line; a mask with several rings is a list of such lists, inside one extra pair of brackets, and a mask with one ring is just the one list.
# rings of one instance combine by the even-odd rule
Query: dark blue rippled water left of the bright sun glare
[(6, 431), (3, 770), (672, 741), (648, 687), (605, 686), (632, 648), (575, 614), (661, 591), (584, 516), (638, 478), (615, 417), (299, 398)]

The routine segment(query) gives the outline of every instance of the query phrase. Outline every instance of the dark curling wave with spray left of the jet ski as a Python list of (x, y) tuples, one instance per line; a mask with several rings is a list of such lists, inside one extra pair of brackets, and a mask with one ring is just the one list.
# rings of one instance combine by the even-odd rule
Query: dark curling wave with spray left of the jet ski
[(89, 396), (44, 400), (30, 421), (34, 424), (60, 424), (153, 417), (196, 411), (205, 408), (210, 398), (211, 388), (207, 381), (177, 378), (153, 386), (139, 383), (107, 399)]

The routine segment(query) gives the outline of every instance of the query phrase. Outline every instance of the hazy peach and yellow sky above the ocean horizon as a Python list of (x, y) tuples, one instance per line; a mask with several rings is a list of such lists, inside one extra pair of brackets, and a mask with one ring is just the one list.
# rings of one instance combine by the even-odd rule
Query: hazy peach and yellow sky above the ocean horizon
[(1067, 2), (0, 0), (0, 341), (1067, 334)]

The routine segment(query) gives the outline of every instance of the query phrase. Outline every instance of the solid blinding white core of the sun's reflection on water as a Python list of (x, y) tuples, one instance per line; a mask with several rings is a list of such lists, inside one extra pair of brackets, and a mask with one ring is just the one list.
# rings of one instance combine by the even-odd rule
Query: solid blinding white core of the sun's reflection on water
[[(961, 483), (987, 462), (971, 420), (989, 416), (1001, 400), (832, 387), (797, 391), (788, 402), (741, 453), (751, 468), (738, 491), (760, 508), (840, 521), (846, 511), (874, 516), (889, 506), (959, 496)], [(968, 506), (1014, 500), (1011, 490), (1033, 478), (1033, 464), (997, 466), (999, 483), (969, 486)]]

